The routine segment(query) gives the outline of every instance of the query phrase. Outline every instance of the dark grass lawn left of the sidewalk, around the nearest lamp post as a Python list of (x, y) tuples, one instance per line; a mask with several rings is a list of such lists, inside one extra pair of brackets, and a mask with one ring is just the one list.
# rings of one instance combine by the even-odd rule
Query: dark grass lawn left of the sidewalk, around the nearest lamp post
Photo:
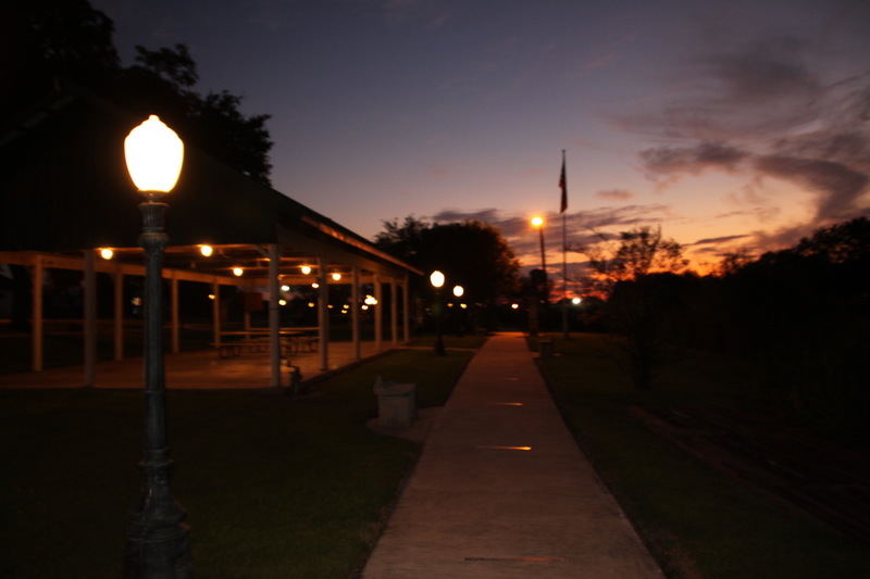
[[(172, 392), (172, 490), (202, 578), (358, 574), (419, 446), (370, 431), (378, 375), (442, 404), (472, 352), (399, 351), (304, 397)], [(137, 500), (140, 392), (0, 391), (0, 577), (119, 577)]]

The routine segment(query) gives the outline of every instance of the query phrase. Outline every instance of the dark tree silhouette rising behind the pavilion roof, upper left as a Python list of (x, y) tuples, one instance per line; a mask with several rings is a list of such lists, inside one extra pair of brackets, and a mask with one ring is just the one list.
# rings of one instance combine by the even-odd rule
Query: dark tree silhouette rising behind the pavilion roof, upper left
[(86, 0), (13, 0), (3, 10), (0, 123), (15, 123), (34, 103), (74, 85), (139, 116), (160, 115), (186, 142), (270, 185), (269, 115), (244, 115), (241, 97), (227, 91), (197, 92), (196, 62), (185, 45), (138, 46), (134, 64), (122, 67), (114, 24)]

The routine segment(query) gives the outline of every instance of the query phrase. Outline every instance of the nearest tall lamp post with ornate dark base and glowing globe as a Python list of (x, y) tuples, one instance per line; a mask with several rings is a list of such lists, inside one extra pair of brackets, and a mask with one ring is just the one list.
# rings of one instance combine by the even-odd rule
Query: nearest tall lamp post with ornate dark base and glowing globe
[(169, 236), (163, 225), (166, 203), (160, 200), (178, 180), (184, 143), (160, 118), (151, 115), (124, 141), (127, 169), (146, 201), (139, 204), (145, 250), (145, 445), (139, 466), (142, 490), (130, 511), (124, 556), (124, 577), (188, 578), (194, 575), (188, 541), (182, 523), (185, 511), (170, 492), (172, 461), (166, 446), (166, 404), (163, 370), (163, 249)]

